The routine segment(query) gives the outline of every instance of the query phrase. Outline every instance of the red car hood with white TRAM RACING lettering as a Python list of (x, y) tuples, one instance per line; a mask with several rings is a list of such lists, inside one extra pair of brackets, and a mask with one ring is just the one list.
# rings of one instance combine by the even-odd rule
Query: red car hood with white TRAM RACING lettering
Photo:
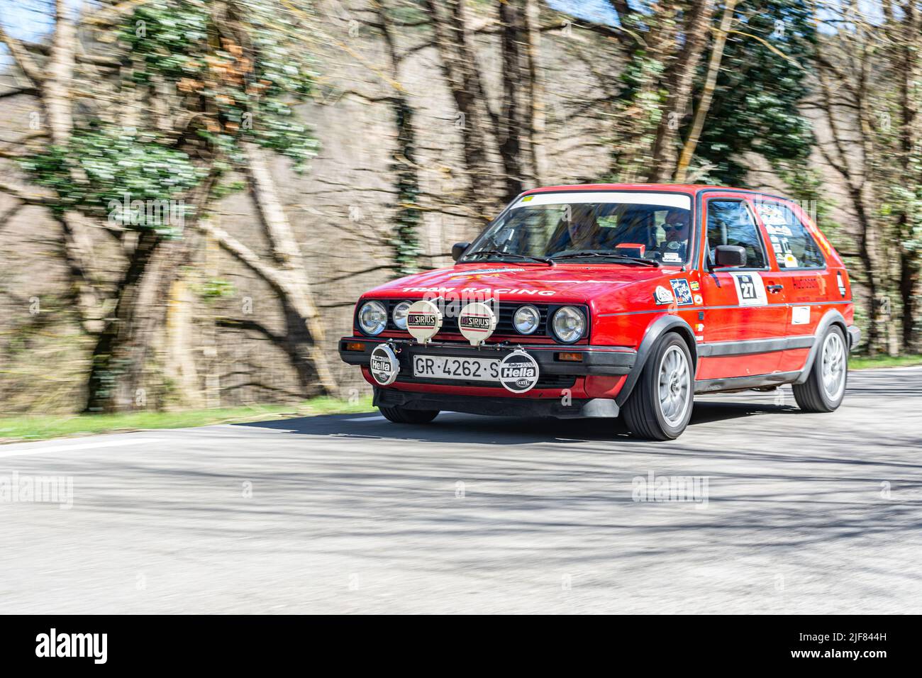
[(468, 293), (490, 294), (500, 301), (592, 303), (627, 286), (677, 275), (681, 275), (679, 268), (611, 263), (553, 267), (531, 263), (462, 264), (392, 280), (364, 296), (414, 299), (432, 293)]

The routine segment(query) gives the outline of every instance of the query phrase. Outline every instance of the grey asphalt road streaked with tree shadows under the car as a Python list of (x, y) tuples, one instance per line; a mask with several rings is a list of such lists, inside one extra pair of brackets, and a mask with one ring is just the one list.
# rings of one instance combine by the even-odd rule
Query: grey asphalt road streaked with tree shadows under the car
[[(325, 416), (0, 446), (4, 613), (922, 613), (922, 368), (606, 420)], [(707, 479), (706, 503), (635, 478)], [(10, 482), (10, 481), (7, 481)], [(462, 484), (463, 483), (463, 484)]]

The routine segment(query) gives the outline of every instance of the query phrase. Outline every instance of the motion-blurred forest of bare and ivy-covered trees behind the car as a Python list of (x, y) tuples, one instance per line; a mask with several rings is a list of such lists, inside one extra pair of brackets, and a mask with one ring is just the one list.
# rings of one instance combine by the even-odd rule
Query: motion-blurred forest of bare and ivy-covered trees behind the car
[(372, 286), (541, 184), (803, 201), (918, 352), (922, 7), (0, 0), (5, 414), (365, 390)]

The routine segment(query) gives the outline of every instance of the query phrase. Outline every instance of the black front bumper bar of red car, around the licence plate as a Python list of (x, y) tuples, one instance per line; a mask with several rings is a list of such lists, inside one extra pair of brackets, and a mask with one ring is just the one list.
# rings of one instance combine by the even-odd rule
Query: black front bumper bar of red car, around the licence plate
[[(413, 356), (420, 353), (456, 358), (502, 358), (507, 353), (521, 349), (535, 359), (542, 376), (627, 375), (631, 372), (637, 359), (637, 351), (617, 346), (528, 345), (503, 342), (502, 344), (486, 344), (480, 348), (474, 348), (460, 343), (431, 342), (423, 345), (407, 339), (369, 339), (368, 337), (344, 337), (339, 339), (339, 357), (342, 358), (343, 362), (350, 365), (364, 365), (367, 367), (371, 363), (374, 347), (387, 342), (390, 342), (396, 352), (397, 360), (400, 362), (400, 375), (397, 377), (397, 384), (402, 379), (408, 379), (412, 375)], [(349, 343), (361, 343), (364, 349), (362, 351), (349, 351), (347, 349), (347, 344)], [(561, 352), (581, 353), (583, 360), (579, 363), (561, 361)], [(458, 386), (461, 386), (461, 384), (458, 384)]]

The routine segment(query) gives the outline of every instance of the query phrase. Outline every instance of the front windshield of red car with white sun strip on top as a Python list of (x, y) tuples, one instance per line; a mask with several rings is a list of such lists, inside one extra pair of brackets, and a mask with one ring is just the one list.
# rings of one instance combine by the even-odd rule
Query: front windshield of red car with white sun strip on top
[(691, 196), (570, 192), (518, 198), (462, 262), (522, 257), (681, 265), (691, 252)]

